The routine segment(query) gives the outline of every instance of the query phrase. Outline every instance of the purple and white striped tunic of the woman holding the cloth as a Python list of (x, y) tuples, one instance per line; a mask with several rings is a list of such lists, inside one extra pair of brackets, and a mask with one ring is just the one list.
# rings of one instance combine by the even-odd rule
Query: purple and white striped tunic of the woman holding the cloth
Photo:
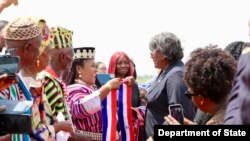
[(67, 87), (74, 126), (83, 131), (100, 133), (102, 130), (101, 99), (99, 91), (93, 92), (82, 84)]

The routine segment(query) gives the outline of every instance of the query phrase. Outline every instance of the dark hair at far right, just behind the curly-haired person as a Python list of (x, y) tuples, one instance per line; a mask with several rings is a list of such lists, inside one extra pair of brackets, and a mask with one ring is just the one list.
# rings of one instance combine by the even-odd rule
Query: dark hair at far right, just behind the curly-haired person
[(229, 52), (235, 60), (239, 60), (242, 50), (246, 47), (246, 43), (242, 41), (231, 42), (225, 47), (225, 50)]

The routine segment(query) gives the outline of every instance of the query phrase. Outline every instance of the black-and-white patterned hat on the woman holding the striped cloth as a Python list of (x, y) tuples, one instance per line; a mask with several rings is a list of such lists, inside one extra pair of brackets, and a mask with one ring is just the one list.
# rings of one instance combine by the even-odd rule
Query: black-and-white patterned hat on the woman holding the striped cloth
[(94, 59), (95, 48), (94, 47), (78, 47), (74, 48), (74, 59)]

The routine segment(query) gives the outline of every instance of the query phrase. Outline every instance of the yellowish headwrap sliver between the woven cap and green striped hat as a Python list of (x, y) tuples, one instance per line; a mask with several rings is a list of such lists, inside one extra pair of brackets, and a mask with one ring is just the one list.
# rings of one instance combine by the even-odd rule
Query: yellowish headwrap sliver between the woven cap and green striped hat
[(46, 21), (44, 19), (36, 19), (36, 24), (38, 25), (40, 32), (42, 34), (42, 42), (41, 46), (39, 48), (40, 54), (43, 53), (43, 51), (49, 46), (50, 44), (50, 29), (48, 25), (46, 24)]

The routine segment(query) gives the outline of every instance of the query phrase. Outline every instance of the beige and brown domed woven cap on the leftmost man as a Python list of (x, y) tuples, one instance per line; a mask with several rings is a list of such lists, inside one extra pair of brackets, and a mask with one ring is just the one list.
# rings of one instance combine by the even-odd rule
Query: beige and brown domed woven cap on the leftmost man
[(18, 18), (10, 22), (3, 32), (7, 40), (29, 40), (41, 35), (39, 27), (30, 18)]

